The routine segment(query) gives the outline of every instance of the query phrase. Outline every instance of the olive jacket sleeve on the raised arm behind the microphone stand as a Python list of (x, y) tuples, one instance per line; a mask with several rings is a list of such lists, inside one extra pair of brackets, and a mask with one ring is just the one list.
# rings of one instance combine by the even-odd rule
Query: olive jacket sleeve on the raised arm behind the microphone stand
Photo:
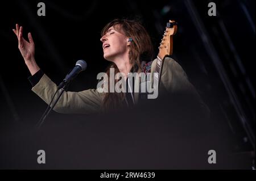
[[(56, 90), (56, 84), (46, 74), (32, 87), (32, 91), (47, 104), (51, 102)], [(55, 98), (57, 95), (58, 93)], [(53, 110), (59, 113), (98, 113), (101, 110), (101, 96), (96, 89), (80, 92), (64, 91)]]

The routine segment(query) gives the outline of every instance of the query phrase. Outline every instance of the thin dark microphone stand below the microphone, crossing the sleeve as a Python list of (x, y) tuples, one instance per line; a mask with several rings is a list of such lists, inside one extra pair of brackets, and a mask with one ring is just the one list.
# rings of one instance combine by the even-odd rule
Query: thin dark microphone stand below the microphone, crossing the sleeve
[[(65, 83), (66, 83), (66, 84), (65, 84)], [(57, 102), (59, 101), (59, 99), (60, 99), (61, 95), (63, 94), (63, 92), (68, 89), (69, 83), (70, 83), (70, 82), (68, 82), (68, 83), (67, 83), (67, 82), (61, 82), (61, 83), (60, 83), (59, 87), (61, 86), (62, 88), (61, 88), (61, 89), (57, 89), (57, 91), (61, 90), (61, 91), (60, 91), (60, 94), (57, 96), (57, 99), (53, 102), (52, 107), (50, 107), (50, 106), (51, 106), (51, 103), (52, 103), (52, 101), (53, 101), (53, 99), (54, 99), (54, 97), (55, 97), (55, 95), (56, 95), (56, 93), (57, 93), (57, 91), (56, 91), (55, 95), (53, 95), (53, 98), (52, 98), (51, 103), (50, 103), (49, 106), (47, 107), (47, 109), (46, 109), (46, 111), (44, 112), (44, 114), (43, 114), (43, 116), (41, 117), (41, 119), (40, 119), (40, 120), (38, 121), (38, 123), (36, 124), (36, 128), (39, 129), (39, 128), (42, 126), (42, 124), (44, 123), (44, 120), (46, 120), (46, 117), (47, 117), (47, 116), (49, 115), (49, 113), (53, 110), (53, 108), (55, 107), (55, 105), (56, 105)], [(50, 109), (48, 110), (49, 107), (50, 107)]]

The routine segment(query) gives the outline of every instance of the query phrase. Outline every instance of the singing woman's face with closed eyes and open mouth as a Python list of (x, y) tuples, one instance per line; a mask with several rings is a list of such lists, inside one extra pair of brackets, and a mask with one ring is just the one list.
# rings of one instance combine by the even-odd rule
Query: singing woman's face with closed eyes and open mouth
[(129, 53), (129, 38), (122, 31), (118, 30), (121, 30), (121, 28), (118, 28), (118, 25), (115, 28), (112, 26), (101, 37), (104, 58), (108, 61), (114, 61), (115, 58), (121, 58), (126, 53)]

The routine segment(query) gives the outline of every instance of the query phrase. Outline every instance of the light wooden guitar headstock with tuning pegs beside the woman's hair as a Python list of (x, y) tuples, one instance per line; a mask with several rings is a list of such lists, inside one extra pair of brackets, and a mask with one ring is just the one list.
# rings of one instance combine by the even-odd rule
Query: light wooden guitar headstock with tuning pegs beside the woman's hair
[(164, 31), (163, 39), (160, 43), (158, 58), (163, 60), (167, 55), (172, 54), (173, 40), (172, 37), (177, 32), (177, 23), (174, 20), (170, 20), (167, 23), (166, 31)]

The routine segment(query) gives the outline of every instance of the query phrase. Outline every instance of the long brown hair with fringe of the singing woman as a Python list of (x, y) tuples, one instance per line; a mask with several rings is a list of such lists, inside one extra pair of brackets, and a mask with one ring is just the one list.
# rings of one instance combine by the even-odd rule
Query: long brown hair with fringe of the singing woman
[[(129, 59), (133, 69), (141, 68), (141, 61), (152, 60), (153, 56), (153, 46), (148, 35), (148, 32), (142, 26), (141, 22), (137, 20), (128, 20), (128, 19), (114, 19), (101, 31), (101, 36), (104, 36), (105, 33), (109, 30), (110, 27), (114, 27), (117, 31), (125, 33), (125, 36), (131, 37), (132, 42), (130, 44)], [(119, 30), (118, 30), (119, 29)], [(118, 73), (119, 70), (117, 66), (112, 63), (106, 70), (106, 74), (110, 74), (110, 68), (114, 68), (114, 73)], [(115, 83), (118, 82), (115, 79)], [(125, 99), (125, 94), (110, 92), (105, 93), (102, 103), (102, 109), (104, 111), (115, 110), (118, 107), (122, 106), (122, 102)]]

